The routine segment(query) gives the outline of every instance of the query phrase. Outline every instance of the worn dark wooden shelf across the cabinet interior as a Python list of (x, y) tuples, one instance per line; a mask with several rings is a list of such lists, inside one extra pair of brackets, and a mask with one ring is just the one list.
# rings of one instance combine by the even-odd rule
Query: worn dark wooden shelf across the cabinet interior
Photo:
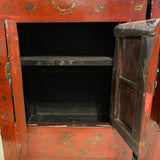
[(111, 57), (21, 57), (22, 66), (112, 66)]

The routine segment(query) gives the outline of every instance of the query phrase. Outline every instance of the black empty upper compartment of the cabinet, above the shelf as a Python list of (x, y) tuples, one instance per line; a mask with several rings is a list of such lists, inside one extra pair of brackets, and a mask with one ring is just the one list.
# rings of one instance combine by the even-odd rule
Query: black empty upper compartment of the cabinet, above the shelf
[(113, 56), (117, 23), (18, 24), (21, 56)]

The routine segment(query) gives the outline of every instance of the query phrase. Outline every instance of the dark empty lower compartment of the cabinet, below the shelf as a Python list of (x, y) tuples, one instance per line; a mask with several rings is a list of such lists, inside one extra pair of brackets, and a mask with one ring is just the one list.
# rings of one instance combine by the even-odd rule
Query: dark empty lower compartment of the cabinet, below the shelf
[(106, 122), (111, 67), (23, 67), (30, 122)]

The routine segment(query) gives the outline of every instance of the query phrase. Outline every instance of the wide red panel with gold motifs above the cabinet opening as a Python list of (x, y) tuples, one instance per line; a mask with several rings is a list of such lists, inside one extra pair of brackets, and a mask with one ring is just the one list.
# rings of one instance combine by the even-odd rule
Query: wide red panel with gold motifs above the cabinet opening
[(26, 21), (144, 20), (147, 0), (1, 0), (0, 18)]

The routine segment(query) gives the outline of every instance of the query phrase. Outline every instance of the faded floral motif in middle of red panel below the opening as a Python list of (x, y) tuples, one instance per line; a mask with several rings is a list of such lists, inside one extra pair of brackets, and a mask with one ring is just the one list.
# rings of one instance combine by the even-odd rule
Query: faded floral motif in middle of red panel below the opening
[(74, 134), (71, 131), (62, 131), (61, 136), (59, 137), (59, 144), (63, 144), (65, 148), (70, 152), (75, 148), (75, 142), (72, 139)]

